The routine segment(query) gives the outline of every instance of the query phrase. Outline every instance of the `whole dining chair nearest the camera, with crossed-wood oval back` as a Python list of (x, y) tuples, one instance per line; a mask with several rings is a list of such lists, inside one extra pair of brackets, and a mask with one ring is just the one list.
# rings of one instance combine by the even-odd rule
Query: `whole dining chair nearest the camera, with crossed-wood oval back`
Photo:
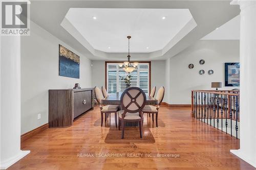
[(122, 127), (124, 136), (124, 123), (138, 122), (140, 129), (140, 138), (142, 138), (143, 112), (142, 109), (146, 104), (146, 94), (139, 87), (130, 87), (124, 90), (121, 95), (121, 106), (123, 110), (118, 111), (118, 129)]

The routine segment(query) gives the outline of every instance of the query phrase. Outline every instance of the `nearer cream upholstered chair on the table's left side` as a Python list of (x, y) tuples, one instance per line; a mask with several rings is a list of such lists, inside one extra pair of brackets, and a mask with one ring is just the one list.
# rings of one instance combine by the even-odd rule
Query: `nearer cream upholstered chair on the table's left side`
[(103, 93), (100, 90), (100, 88), (97, 87), (97, 86), (94, 87), (94, 93), (95, 93), (96, 100), (97, 100), (97, 102), (99, 104), (99, 107), (100, 107), (101, 126), (103, 124), (103, 113), (105, 114), (105, 122), (106, 122), (107, 114), (115, 113), (115, 123), (116, 123), (116, 128), (117, 128), (118, 105), (106, 105), (106, 106), (103, 106), (102, 103), (101, 103), (101, 100), (104, 99), (104, 96), (103, 96)]

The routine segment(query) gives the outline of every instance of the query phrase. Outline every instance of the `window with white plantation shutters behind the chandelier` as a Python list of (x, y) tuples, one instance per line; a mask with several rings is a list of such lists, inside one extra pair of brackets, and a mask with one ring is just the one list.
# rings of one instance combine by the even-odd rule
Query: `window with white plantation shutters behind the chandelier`
[[(128, 73), (119, 68), (120, 63), (106, 62), (106, 87), (109, 93), (123, 92), (126, 88), (125, 78)], [(150, 90), (150, 62), (141, 62), (138, 69), (130, 72), (131, 86), (140, 87), (145, 93)]]

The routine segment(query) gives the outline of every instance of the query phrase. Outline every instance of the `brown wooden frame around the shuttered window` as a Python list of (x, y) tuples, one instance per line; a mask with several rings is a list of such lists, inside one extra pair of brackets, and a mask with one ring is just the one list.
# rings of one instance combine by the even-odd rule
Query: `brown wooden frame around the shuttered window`
[[(148, 64), (148, 94), (151, 93), (151, 61), (132, 61), (138, 62), (138, 63), (146, 63)], [(105, 88), (108, 90), (108, 64), (117, 64), (117, 63), (123, 63), (123, 61), (105, 61)], [(139, 75), (139, 74), (138, 74)], [(117, 80), (117, 83), (119, 80)]]

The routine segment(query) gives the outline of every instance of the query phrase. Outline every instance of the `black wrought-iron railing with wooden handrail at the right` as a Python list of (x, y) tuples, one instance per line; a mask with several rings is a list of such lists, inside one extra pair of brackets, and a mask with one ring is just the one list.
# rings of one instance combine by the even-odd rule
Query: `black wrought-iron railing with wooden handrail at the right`
[(239, 90), (191, 90), (191, 116), (239, 138)]

